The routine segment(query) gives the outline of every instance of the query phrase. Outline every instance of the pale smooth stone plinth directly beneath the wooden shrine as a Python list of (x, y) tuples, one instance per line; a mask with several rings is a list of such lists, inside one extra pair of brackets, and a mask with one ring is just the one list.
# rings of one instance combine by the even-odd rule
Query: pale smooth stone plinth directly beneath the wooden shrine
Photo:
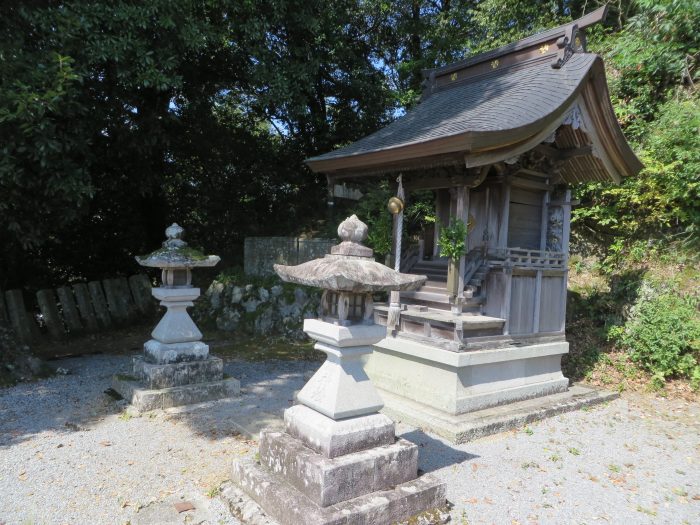
[(374, 345), (365, 370), (375, 387), (453, 416), (565, 392), (565, 341), (454, 352), (404, 337)]

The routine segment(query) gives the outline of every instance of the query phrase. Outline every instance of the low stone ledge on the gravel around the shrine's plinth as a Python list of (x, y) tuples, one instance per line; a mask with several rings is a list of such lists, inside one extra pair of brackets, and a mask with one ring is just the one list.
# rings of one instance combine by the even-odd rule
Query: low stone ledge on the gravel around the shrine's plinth
[(379, 393), (385, 402), (382, 412), (394, 421), (433, 432), (457, 444), (619, 397), (613, 392), (574, 385), (566, 392), (455, 416), (381, 389)]

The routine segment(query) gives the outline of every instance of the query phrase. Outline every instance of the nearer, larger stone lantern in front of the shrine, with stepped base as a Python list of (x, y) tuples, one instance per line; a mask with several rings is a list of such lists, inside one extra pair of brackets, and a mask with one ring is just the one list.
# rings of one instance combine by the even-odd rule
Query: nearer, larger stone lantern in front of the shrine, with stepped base
[(361, 359), (386, 335), (374, 324), (372, 294), (414, 290), (427, 278), (375, 262), (362, 245), (367, 226), (354, 215), (338, 235), (321, 259), (275, 265), (283, 280), (324, 290), (320, 317), (304, 321), (304, 331), (328, 358), (285, 410), (285, 432), (261, 432), (259, 464), (233, 467), (231, 506), (252, 499), (285, 525), (394, 523), (445, 503), (444, 484), (418, 477), (418, 447), (397, 439), (379, 413)]

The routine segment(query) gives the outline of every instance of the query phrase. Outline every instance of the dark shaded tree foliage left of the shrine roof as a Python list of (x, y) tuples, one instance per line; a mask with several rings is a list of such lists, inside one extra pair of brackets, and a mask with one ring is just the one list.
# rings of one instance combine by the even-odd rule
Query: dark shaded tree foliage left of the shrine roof
[(42, 0), (0, 19), (0, 286), (135, 270), (169, 222), (240, 257), (323, 215), (302, 160), (391, 105), (356, 2)]

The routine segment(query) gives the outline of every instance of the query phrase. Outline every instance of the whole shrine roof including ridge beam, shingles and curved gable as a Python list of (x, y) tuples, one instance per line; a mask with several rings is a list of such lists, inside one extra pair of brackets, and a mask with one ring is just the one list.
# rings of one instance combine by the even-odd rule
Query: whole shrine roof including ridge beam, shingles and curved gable
[(636, 174), (641, 164), (616, 121), (602, 59), (585, 52), (582, 29), (604, 16), (601, 8), (569, 25), (428, 70), (415, 109), (306, 162), (336, 179), (475, 167), (514, 158), (548, 140), (564, 151), (590, 145), (590, 154), (563, 164), (567, 182), (619, 181)]

